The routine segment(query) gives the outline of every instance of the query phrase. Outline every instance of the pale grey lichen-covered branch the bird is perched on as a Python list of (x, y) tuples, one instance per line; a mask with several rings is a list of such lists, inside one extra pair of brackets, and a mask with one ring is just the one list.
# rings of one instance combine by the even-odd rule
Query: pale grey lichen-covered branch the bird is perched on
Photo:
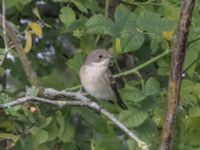
[[(91, 101), (89, 98), (85, 97), (83, 94), (79, 92), (75, 93), (75, 92), (56, 91), (54, 89), (45, 89), (43, 94), (45, 98), (26, 96), (26, 97), (16, 99), (12, 102), (0, 104), (0, 108), (5, 109), (5, 108), (9, 108), (15, 105), (23, 104), (28, 101), (37, 101), (41, 103), (52, 104), (60, 108), (65, 105), (86, 106), (100, 112), (106, 118), (111, 120), (118, 128), (120, 128), (125, 134), (127, 134), (131, 139), (133, 139), (142, 150), (148, 150), (146, 143), (140, 140), (131, 130), (129, 130), (124, 124), (122, 124), (113, 114), (108, 112), (105, 108), (100, 106), (98, 103)], [(64, 97), (66, 99), (62, 101), (52, 100), (52, 99), (56, 99), (60, 97)]]

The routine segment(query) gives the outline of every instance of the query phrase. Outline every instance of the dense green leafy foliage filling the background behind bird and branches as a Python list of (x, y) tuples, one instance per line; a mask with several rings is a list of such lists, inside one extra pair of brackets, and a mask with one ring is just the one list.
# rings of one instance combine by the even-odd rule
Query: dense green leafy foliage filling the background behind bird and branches
[[(6, 0), (6, 18), (19, 31), (24, 51), (44, 87), (63, 90), (80, 84), (78, 72), (86, 54), (98, 47), (112, 51), (122, 71), (143, 64), (171, 48), (180, 2), (175, 0)], [(200, 2), (193, 13), (184, 62), (175, 149), (199, 149)], [(2, 35), (2, 30), (1, 30)], [(196, 40), (197, 39), (197, 40)], [(0, 39), (1, 58), (4, 57)], [(128, 111), (103, 105), (154, 150), (166, 107), (170, 55), (123, 77), (120, 94)], [(113, 73), (120, 70), (111, 66)], [(27, 89), (27, 78), (15, 51), (0, 68), (0, 101)], [(120, 83), (120, 82), (119, 82)], [(0, 149), (136, 150), (137, 145), (101, 115), (81, 107), (55, 108), (26, 103), (1, 110)]]

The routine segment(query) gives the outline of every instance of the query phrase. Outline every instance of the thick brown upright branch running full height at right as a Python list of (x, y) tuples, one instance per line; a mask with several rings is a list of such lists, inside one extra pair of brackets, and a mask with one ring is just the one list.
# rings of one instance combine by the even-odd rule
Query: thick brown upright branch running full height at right
[(176, 41), (172, 48), (171, 73), (168, 82), (167, 111), (163, 123), (160, 150), (170, 150), (172, 147), (177, 109), (179, 105), (182, 66), (185, 57), (187, 36), (189, 33), (192, 11), (195, 0), (183, 0), (178, 24)]

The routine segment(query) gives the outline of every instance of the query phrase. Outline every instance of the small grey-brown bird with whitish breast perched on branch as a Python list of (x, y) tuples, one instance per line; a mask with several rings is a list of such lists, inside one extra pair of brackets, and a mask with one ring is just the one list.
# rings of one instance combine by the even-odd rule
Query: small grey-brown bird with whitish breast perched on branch
[(108, 65), (112, 55), (105, 49), (96, 49), (89, 53), (80, 69), (80, 80), (84, 89), (96, 99), (111, 100), (122, 109), (128, 107), (121, 100), (112, 73)]

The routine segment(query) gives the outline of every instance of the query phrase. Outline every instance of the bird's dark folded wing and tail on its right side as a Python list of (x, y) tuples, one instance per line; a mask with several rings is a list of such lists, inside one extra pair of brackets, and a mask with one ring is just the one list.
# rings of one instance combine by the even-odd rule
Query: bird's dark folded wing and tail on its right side
[(112, 77), (112, 73), (109, 69), (106, 70), (107, 71), (107, 74), (105, 75), (105, 78), (106, 78), (106, 81), (107, 83), (110, 85), (110, 87), (112, 88), (115, 96), (116, 96), (116, 99), (117, 99), (117, 104), (122, 108), (122, 109), (125, 109), (127, 110), (128, 107), (126, 106), (126, 104), (122, 101), (121, 99), (121, 96), (117, 90), (117, 86), (116, 86), (116, 82), (115, 80), (113, 79)]

